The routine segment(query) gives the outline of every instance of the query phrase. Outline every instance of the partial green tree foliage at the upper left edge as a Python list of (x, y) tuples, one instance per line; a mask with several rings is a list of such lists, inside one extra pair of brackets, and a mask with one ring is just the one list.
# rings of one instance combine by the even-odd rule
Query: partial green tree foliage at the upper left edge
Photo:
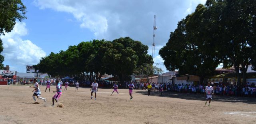
[[(21, 0), (0, 0), (0, 36), (5, 32), (11, 32), (16, 20), (26, 19), (26, 6)], [(3, 51), (3, 43), (0, 38), (0, 53)], [(0, 55), (0, 69), (3, 68), (4, 56)]]

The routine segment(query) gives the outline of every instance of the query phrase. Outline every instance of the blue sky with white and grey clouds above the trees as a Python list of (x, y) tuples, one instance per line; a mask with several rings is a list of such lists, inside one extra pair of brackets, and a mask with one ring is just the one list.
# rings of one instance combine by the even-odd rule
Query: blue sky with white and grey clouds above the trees
[[(27, 20), (1, 36), (4, 65), (25, 72), (50, 52), (92, 39), (129, 36), (149, 46), (152, 54), (153, 18), (156, 14), (155, 62), (179, 20), (206, 0), (22, 0)], [(162, 68), (162, 65), (159, 64)], [(166, 69), (164, 69), (166, 72)]]

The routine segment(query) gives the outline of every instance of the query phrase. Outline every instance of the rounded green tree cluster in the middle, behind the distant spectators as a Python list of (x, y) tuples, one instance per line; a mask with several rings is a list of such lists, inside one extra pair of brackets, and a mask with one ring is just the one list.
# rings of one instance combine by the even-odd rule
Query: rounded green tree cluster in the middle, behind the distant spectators
[(119, 38), (112, 42), (92, 40), (69, 46), (68, 50), (51, 53), (36, 65), (40, 72), (56, 76), (73, 76), (90, 81), (100, 80), (103, 74), (117, 76), (122, 82), (138, 68), (152, 65), (147, 54), (148, 46), (131, 38)]

